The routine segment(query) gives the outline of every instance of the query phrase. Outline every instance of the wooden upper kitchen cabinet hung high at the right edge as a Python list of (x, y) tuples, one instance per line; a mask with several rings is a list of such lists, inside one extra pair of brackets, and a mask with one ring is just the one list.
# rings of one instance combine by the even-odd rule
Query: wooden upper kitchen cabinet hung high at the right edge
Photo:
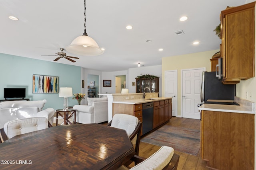
[(254, 77), (255, 2), (223, 10), (220, 15), (223, 83)]

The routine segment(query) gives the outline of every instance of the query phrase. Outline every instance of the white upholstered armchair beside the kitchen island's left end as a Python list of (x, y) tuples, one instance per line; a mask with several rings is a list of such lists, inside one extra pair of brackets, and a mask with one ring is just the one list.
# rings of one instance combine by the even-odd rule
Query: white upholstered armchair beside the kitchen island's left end
[(102, 123), (108, 121), (108, 98), (87, 98), (88, 105), (75, 105), (77, 123)]

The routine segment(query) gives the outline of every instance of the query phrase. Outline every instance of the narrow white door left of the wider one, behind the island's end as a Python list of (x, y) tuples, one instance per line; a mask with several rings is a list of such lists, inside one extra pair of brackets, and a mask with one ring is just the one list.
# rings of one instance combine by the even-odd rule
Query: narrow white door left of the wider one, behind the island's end
[(165, 97), (172, 97), (172, 116), (177, 116), (177, 70), (165, 71)]

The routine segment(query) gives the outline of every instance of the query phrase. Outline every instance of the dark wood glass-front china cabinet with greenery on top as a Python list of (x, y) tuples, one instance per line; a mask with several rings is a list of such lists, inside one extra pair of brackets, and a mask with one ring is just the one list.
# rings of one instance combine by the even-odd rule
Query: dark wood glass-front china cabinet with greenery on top
[[(159, 77), (157, 78), (136, 78), (136, 93), (143, 93), (145, 87), (151, 92), (159, 92)], [(149, 92), (148, 89), (145, 92)]]

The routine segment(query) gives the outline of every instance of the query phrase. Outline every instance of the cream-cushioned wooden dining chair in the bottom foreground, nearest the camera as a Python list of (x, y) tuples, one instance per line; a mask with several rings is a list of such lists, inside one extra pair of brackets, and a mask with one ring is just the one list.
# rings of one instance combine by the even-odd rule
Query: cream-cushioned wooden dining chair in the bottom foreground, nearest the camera
[[(130, 170), (177, 170), (180, 156), (174, 153), (172, 147), (162, 146), (158, 151), (149, 158), (143, 158), (134, 155), (132, 160), (136, 163)], [(129, 168), (122, 165), (118, 170), (128, 170)]]

